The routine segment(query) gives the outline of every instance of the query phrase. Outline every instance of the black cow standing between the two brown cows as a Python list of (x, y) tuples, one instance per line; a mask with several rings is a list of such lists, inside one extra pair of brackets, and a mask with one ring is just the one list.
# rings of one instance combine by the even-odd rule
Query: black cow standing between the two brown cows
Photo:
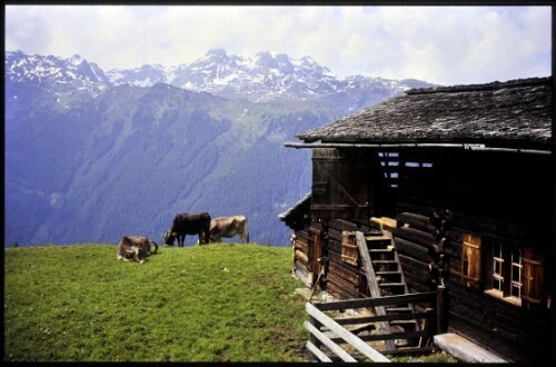
[(167, 232), (162, 234), (166, 245), (173, 245), (178, 239), (178, 247), (183, 247), (186, 235), (199, 235), (198, 244), (209, 242), (210, 215), (208, 212), (199, 214), (179, 214), (173, 218), (172, 225)]

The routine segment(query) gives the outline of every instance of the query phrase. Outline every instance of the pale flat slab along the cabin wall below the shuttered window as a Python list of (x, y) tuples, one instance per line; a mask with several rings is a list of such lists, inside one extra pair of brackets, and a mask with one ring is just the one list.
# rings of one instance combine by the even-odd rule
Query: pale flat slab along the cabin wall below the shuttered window
[(461, 361), (507, 363), (504, 358), (454, 333), (435, 335), (434, 343), (438, 348)]

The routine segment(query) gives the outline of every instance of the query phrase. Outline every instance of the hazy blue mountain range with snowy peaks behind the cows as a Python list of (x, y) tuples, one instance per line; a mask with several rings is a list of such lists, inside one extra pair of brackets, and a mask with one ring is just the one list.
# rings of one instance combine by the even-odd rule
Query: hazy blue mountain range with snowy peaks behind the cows
[(108, 71), (78, 54), (8, 51), (4, 80), (6, 246), (161, 241), (176, 214), (195, 211), (245, 214), (252, 241), (285, 246), (278, 214), (310, 190), (311, 173), (310, 151), (284, 142), (433, 86), (221, 49)]

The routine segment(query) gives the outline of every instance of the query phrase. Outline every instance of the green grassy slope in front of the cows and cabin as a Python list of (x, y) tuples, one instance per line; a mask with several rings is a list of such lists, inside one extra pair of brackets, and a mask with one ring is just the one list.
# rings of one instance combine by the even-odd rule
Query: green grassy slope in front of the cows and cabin
[(289, 248), (116, 246), (4, 250), (4, 360), (305, 360)]

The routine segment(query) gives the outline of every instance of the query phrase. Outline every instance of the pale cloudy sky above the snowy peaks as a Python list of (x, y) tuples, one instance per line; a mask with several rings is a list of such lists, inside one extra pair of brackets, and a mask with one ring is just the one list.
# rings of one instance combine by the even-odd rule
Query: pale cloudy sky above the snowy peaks
[(461, 85), (552, 73), (552, 7), (6, 6), (6, 50), (102, 69), (224, 48), (312, 57), (334, 73)]

